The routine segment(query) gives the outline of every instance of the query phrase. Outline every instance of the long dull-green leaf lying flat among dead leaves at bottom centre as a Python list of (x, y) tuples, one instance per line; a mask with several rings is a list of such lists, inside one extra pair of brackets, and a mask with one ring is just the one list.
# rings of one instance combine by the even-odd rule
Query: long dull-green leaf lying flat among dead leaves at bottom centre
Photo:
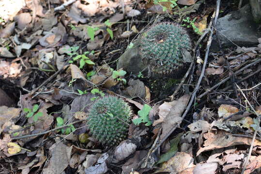
[(180, 142), (181, 136), (183, 133), (179, 133), (174, 139), (170, 140), (170, 149), (167, 153), (161, 155), (159, 157), (159, 161), (156, 164), (160, 164), (162, 162), (166, 162), (171, 159), (178, 151), (178, 144)]

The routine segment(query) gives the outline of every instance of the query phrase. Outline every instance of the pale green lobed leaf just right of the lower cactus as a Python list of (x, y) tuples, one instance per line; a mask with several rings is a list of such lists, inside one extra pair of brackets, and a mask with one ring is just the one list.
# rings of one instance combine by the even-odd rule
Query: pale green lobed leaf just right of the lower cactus
[(146, 123), (146, 126), (151, 126), (152, 122), (149, 119), (149, 113), (151, 109), (151, 106), (149, 106), (148, 104), (144, 104), (143, 108), (140, 111), (138, 111), (139, 118), (132, 120), (132, 122), (135, 125), (139, 125), (139, 123)]

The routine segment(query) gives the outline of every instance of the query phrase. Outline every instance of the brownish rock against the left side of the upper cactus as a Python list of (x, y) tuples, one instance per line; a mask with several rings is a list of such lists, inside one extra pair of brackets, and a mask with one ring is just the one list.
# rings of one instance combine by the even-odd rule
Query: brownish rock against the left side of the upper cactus
[[(134, 41), (132, 48), (127, 48), (123, 55), (119, 58), (117, 69), (123, 68), (128, 73), (137, 74), (141, 72), (146, 66), (143, 64), (139, 51), (139, 38)], [(145, 71), (144, 73), (146, 73)], [(143, 73), (143, 74), (144, 74)]]

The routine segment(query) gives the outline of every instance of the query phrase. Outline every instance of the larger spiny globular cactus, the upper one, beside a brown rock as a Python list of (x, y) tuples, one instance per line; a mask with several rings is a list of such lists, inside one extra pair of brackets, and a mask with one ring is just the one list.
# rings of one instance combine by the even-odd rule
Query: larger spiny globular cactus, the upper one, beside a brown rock
[(182, 50), (190, 50), (190, 38), (178, 24), (162, 22), (145, 31), (141, 37), (140, 56), (152, 72), (168, 74), (184, 65)]

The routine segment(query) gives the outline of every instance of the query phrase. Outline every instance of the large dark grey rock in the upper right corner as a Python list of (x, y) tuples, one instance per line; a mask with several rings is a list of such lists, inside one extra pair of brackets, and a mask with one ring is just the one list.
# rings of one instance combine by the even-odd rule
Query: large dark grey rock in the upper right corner
[[(218, 30), (222, 48), (236, 46), (235, 44), (238, 46), (251, 46), (259, 43), (258, 24), (254, 22), (249, 4), (232, 14), (219, 18), (216, 29)], [(217, 51), (216, 36), (213, 39), (211, 49)]]

